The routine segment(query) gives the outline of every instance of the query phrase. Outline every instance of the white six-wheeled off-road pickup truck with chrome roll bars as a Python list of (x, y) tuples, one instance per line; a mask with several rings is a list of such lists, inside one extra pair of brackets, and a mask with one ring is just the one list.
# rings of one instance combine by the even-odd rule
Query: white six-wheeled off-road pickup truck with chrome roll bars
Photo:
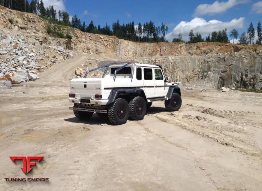
[[(101, 77), (86, 78), (89, 72), (105, 69)], [(69, 102), (78, 119), (86, 120), (94, 112), (108, 117), (112, 124), (128, 119), (142, 120), (153, 101), (164, 100), (169, 111), (182, 104), (180, 88), (169, 83), (160, 65), (113, 62), (88, 70), (84, 78), (71, 80)]]

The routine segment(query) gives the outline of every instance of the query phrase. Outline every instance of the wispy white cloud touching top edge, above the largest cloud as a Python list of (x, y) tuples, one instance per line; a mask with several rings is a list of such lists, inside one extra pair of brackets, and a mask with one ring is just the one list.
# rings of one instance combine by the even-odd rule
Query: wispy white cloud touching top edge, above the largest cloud
[(199, 15), (214, 15), (217, 13), (223, 13), (226, 10), (232, 8), (233, 6), (236, 6), (238, 4), (245, 4), (248, 3), (249, 0), (229, 0), (229, 1), (215, 1), (213, 4), (201, 4), (197, 6), (195, 9), (195, 12), (193, 14), (194, 17)]

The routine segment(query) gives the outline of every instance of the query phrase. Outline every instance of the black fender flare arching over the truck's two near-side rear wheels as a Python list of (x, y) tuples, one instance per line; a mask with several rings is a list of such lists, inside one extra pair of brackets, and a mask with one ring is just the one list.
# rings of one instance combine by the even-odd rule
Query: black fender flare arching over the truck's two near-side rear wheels
[(114, 103), (114, 101), (116, 100), (116, 96), (119, 93), (130, 93), (130, 94), (135, 94), (137, 96), (141, 96), (142, 98), (145, 99), (145, 101), (147, 103), (146, 94), (145, 94), (143, 89), (141, 89), (141, 88), (126, 88), (126, 89), (112, 89), (112, 91), (110, 92), (110, 94), (108, 96), (108, 102), (107, 102), (106, 105)]

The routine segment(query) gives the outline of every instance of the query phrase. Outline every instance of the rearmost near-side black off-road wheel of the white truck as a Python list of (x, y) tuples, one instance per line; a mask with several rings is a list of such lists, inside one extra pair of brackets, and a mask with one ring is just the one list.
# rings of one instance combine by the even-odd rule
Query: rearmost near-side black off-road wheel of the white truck
[(116, 125), (125, 124), (129, 117), (128, 102), (123, 98), (116, 99), (114, 104), (107, 111), (107, 116), (112, 124), (116, 124)]

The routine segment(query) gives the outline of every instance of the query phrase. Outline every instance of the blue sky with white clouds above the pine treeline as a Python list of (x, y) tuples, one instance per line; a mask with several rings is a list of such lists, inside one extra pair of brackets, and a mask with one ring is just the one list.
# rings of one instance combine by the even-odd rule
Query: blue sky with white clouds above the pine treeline
[(250, 22), (256, 29), (262, 22), (262, 1), (255, 0), (165, 0), (165, 1), (84, 1), (84, 0), (43, 0), (45, 6), (53, 4), (56, 10), (77, 15), (81, 21), (95, 25), (112, 25), (134, 21), (135, 25), (152, 20), (155, 25), (164, 22), (168, 25), (167, 39), (177, 37), (181, 32), (187, 40), (191, 29), (206, 37), (213, 30), (224, 29), (228, 32), (236, 28), (239, 33), (247, 32)]

